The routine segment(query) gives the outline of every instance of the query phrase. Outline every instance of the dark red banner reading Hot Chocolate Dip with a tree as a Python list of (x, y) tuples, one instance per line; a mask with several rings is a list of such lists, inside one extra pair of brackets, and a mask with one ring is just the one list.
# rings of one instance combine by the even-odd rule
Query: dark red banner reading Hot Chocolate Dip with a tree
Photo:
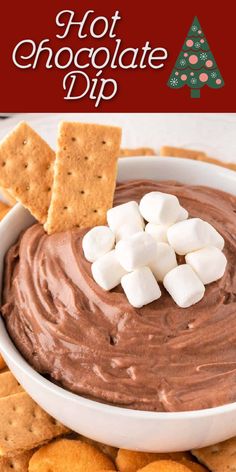
[(2, 2), (0, 111), (235, 112), (230, 4)]

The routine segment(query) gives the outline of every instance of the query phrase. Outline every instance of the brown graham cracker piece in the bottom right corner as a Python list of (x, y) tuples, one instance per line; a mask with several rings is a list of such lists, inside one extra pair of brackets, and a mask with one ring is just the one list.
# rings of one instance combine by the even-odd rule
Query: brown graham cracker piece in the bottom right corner
[(236, 437), (191, 452), (211, 472), (236, 471)]

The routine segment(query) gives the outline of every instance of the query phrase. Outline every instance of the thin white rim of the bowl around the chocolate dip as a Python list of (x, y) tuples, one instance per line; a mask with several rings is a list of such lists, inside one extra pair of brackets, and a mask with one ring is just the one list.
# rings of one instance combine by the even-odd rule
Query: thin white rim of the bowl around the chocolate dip
[[(122, 158), (119, 160), (119, 164), (121, 162), (129, 162), (129, 165), (135, 165), (137, 162), (143, 161), (145, 159), (145, 162), (153, 162), (155, 159), (157, 162), (186, 162), (186, 165), (188, 166), (201, 166), (205, 168), (206, 170), (214, 170), (215, 171), (220, 171), (222, 174), (225, 176), (232, 177), (236, 181), (236, 172), (233, 170), (217, 166), (215, 164), (210, 164), (202, 161), (194, 161), (194, 160), (188, 160), (185, 158), (176, 158), (176, 157), (158, 157), (158, 156), (150, 156), (150, 157), (143, 157), (143, 156), (134, 156), (132, 158)], [(133, 164), (131, 164), (133, 163)], [(121, 164), (122, 165), (122, 164)], [(137, 179), (134, 179), (137, 180)], [(15, 205), (9, 212), (8, 214), (4, 217), (4, 221), (7, 219), (11, 219), (14, 217), (15, 213), (18, 212), (18, 209), (21, 208), (21, 204), (18, 203)], [(2, 220), (3, 221), (3, 220)], [(16, 349), (13, 341), (11, 340), (4, 321), (2, 317), (0, 316), (0, 332), (4, 332), (5, 337), (1, 339), (1, 345), (0, 345), (0, 351), (3, 354), (5, 354), (6, 358), (10, 359), (10, 362), (14, 363), (17, 365), (17, 367), (24, 372), (28, 377), (31, 378), (33, 382), (37, 382), (38, 384), (42, 384), (45, 389), (51, 390), (53, 393), (55, 393), (56, 396), (61, 396), (65, 400), (72, 400), (75, 403), (79, 403), (80, 406), (84, 406), (86, 408), (90, 408), (93, 410), (99, 410), (100, 412), (104, 413), (112, 413), (113, 415), (119, 415), (119, 416), (124, 416), (124, 417), (135, 417), (135, 418), (140, 418), (140, 419), (146, 419), (148, 421), (158, 421), (158, 419), (171, 419), (171, 420), (182, 420), (182, 419), (194, 419), (194, 418), (203, 418), (203, 417), (212, 417), (212, 416), (218, 416), (221, 414), (225, 413), (230, 413), (231, 411), (235, 411), (236, 409), (236, 402), (232, 403), (227, 403), (225, 405), (213, 407), (213, 408), (206, 408), (206, 409), (199, 409), (199, 410), (191, 410), (191, 411), (177, 411), (177, 412), (159, 412), (159, 411), (145, 411), (145, 410), (134, 410), (130, 408), (124, 408), (119, 405), (111, 405), (108, 403), (101, 403), (97, 400), (92, 400), (86, 397), (82, 397), (76, 393), (70, 392), (69, 390), (64, 389), (63, 387), (60, 387), (50, 380), (46, 379), (43, 377), (43, 375), (39, 374), (36, 370), (34, 370), (28, 362), (23, 358), (23, 356), (20, 354), (20, 352)], [(7, 344), (10, 343), (10, 351), (7, 346)]]

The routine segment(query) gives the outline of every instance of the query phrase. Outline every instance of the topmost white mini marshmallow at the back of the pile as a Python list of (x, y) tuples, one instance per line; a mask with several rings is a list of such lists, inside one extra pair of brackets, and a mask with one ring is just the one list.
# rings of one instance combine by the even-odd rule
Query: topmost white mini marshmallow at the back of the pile
[(149, 223), (169, 226), (177, 221), (180, 204), (175, 195), (150, 192), (141, 199), (139, 209)]

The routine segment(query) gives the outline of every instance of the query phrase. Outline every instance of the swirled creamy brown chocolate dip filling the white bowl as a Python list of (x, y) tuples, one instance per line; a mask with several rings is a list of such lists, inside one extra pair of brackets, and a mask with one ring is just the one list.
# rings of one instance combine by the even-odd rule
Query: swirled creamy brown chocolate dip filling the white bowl
[[(130, 181), (115, 204), (153, 190), (175, 194), (224, 237), (225, 275), (179, 308), (162, 297), (133, 308), (103, 291), (83, 256), (86, 231), (48, 236), (35, 224), (6, 256), (2, 314), (16, 346), (68, 390), (133, 409), (184, 411), (236, 401), (236, 198), (207, 187)], [(184, 237), (184, 235), (183, 235)]]

